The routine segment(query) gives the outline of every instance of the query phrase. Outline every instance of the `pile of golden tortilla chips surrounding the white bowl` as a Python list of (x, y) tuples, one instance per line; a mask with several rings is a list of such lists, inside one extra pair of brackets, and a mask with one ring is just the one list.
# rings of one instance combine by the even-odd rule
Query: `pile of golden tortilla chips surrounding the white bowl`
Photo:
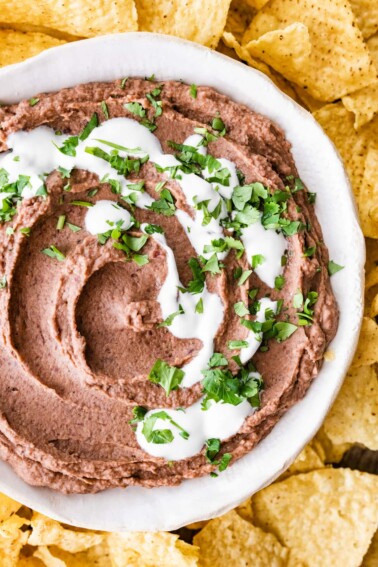
[[(235, 510), (179, 535), (107, 534), (64, 526), (0, 495), (0, 566), (375, 567), (378, 2), (0, 0), (0, 66), (82, 37), (135, 30), (197, 41), (262, 71), (333, 140), (368, 237), (359, 346), (316, 438), (275, 483)], [(345, 454), (356, 445), (371, 451), (369, 468), (360, 467), (370, 473), (347, 468)]]

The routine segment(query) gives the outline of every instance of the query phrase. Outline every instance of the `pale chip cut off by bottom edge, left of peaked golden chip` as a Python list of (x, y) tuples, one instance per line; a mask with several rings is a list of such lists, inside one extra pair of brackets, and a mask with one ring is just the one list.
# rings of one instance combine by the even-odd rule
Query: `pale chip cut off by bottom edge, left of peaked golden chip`
[(167, 532), (109, 534), (114, 567), (196, 567), (198, 548)]

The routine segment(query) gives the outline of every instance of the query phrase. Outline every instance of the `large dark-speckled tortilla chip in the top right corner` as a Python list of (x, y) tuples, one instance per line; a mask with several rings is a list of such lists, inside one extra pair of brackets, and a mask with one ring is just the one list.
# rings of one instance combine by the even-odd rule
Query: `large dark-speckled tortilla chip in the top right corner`
[[(285, 78), (306, 88), (311, 96), (322, 101), (341, 98), (374, 82), (376, 72), (371, 56), (355, 25), (353, 12), (344, 0), (272, 0), (252, 20), (244, 34), (243, 45), (268, 32), (284, 34), (284, 29), (295, 23), (308, 28), (311, 43), (311, 53), (307, 58), (304, 58), (300, 46), (294, 51), (298, 54), (299, 50), (302, 64), (294, 55), (292, 66), (287, 60), (285, 70), (282, 70), (280, 44), (275, 46), (273, 54), (260, 52), (261, 59)], [(300, 43), (304, 32), (301, 27), (297, 29)], [(280, 33), (276, 37), (279, 36)]]

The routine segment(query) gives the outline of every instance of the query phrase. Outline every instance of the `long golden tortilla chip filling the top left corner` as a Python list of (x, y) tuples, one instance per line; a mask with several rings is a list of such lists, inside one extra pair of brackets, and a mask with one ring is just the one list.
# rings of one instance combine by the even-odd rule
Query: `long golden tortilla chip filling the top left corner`
[(108, 2), (107, 0), (0, 0), (0, 20), (4, 24), (32, 24), (59, 30), (79, 37), (92, 37), (105, 33), (136, 31), (137, 12), (133, 0)]

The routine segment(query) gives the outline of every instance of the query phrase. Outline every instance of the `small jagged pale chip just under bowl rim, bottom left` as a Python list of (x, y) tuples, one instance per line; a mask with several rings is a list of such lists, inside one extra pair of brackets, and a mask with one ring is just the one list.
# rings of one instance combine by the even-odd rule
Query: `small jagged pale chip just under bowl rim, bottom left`
[(65, 551), (78, 553), (102, 542), (103, 536), (90, 531), (65, 529), (59, 522), (51, 520), (38, 512), (33, 512), (31, 519), (29, 545), (56, 545)]

